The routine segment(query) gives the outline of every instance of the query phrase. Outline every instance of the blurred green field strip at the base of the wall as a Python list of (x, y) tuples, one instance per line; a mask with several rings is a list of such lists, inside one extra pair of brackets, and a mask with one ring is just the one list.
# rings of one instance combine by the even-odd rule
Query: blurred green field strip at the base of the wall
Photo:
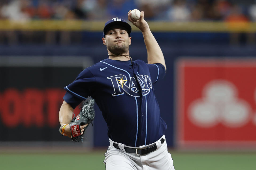
[[(25, 152), (0, 152), (0, 169), (105, 169), (105, 150), (86, 153), (53, 152), (46, 150)], [(255, 170), (255, 152), (177, 152), (170, 151), (176, 170)]]

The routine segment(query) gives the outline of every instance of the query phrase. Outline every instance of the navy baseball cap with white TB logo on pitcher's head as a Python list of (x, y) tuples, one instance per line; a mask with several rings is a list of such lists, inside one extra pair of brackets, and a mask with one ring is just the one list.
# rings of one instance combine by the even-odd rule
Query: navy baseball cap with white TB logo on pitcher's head
[(105, 37), (105, 33), (107, 32), (107, 30), (112, 27), (113, 25), (121, 25), (123, 27), (125, 27), (127, 29), (127, 33), (130, 35), (131, 33), (131, 25), (128, 24), (125, 20), (123, 20), (122, 18), (113, 18), (108, 20), (105, 23), (105, 27), (103, 29), (103, 37)]

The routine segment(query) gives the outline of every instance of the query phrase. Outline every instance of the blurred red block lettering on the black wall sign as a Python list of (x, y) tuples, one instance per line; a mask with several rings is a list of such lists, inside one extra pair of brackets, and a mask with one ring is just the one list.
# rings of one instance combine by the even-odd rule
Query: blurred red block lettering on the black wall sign
[[(0, 93), (0, 120), (8, 128), (20, 125), (29, 127), (59, 126), (59, 109), (66, 91), (62, 88), (40, 90), (27, 88), (19, 91), (15, 88)], [(79, 107), (74, 111), (79, 113)]]

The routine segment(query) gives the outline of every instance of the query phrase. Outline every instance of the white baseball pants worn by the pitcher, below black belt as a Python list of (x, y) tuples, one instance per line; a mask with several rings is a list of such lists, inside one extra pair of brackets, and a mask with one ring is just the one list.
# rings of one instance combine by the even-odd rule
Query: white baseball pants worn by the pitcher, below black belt
[[(165, 135), (163, 135), (165, 138)], [(105, 153), (106, 170), (175, 170), (171, 154), (167, 151), (166, 141), (158, 149), (145, 155), (127, 153), (113, 147), (113, 141)], [(160, 141), (160, 140), (159, 140)], [(152, 145), (152, 144), (150, 144)], [(121, 146), (119, 144), (119, 146)]]

